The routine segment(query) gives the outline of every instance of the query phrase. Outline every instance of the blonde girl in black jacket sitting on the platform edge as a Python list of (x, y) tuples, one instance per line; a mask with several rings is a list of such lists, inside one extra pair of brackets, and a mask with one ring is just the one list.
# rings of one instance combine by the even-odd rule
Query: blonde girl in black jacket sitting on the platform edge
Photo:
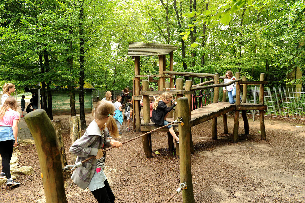
[[(170, 111), (172, 109), (174, 109), (174, 107), (176, 106), (177, 102), (174, 102), (173, 105), (171, 105), (170, 107), (167, 106), (167, 104), (173, 99), (173, 95), (170, 94), (169, 92), (164, 92), (163, 94), (161, 94), (160, 97), (158, 97), (152, 108), (152, 122), (164, 126), (167, 125), (168, 122), (166, 120), (168, 114), (170, 113)], [(170, 134), (175, 138), (176, 142), (179, 143), (179, 137), (177, 137), (174, 128), (172, 125), (167, 126), (167, 128), (170, 131)]]

